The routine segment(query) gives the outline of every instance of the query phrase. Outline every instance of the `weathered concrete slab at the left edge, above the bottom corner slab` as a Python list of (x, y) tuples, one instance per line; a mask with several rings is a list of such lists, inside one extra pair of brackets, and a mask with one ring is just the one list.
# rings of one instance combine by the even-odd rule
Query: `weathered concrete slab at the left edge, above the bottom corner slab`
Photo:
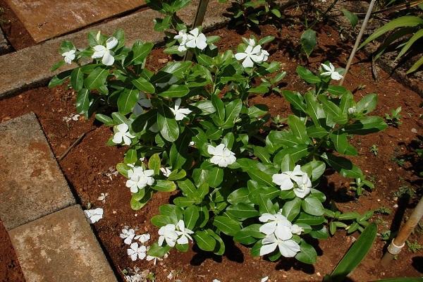
[(0, 123), (0, 218), (10, 230), (75, 204), (35, 114)]

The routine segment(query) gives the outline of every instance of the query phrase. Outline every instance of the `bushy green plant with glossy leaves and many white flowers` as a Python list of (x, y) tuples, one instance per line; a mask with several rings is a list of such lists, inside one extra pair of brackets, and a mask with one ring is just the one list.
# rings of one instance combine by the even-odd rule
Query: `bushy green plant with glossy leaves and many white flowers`
[[(317, 75), (298, 68), (314, 90), (304, 95), (278, 90), (285, 73), (268, 61), (265, 48), (273, 37), (243, 39), (235, 54), (219, 53), (200, 28), (175, 37), (174, 50), (192, 49), (196, 62), (173, 61), (157, 72), (145, 68), (153, 45), (125, 47), (121, 30), (113, 37), (90, 34), (86, 49), (63, 42), (64, 60), (57, 66), (75, 61), (78, 67), (50, 82), (70, 79), (78, 112), (97, 111), (97, 120), (114, 128), (108, 144), (128, 146), (117, 170), (128, 178), (133, 209), (141, 209), (154, 192), (178, 189), (152, 218), (158, 243), (148, 250), (131, 245), (128, 255), (163, 257), (172, 247), (188, 250), (191, 242), (223, 255), (222, 236), (229, 235), (252, 245), (252, 255), (313, 263), (317, 253), (307, 242), (326, 238), (328, 224), (331, 233), (362, 230), (372, 214), (342, 214), (318, 188), (326, 166), (345, 177), (362, 176), (339, 154), (357, 154), (348, 142), (351, 135), (386, 128), (383, 119), (367, 116), (376, 95), (355, 102), (351, 92), (330, 85), (342, 76), (331, 63)], [(82, 66), (87, 59), (91, 63)], [(251, 95), (271, 91), (281, 92), (292, 106), (287, 130), (267, 128), (267, 107), (249, 102)], [(130, 242), (132, 235), (128, 231), (123, 238)]]

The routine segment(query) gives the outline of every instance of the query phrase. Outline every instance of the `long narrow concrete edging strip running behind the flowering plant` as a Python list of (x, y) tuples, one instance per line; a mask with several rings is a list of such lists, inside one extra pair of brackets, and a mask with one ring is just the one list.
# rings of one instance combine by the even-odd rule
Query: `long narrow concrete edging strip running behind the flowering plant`
[[(197, 4), (198, 0), (192, 1), (190, 6), (184, 8), (180, 17), (185, 22), (192, 23)], [(228, 19), (222, 14), (225, 13), (228, 6), (229, 4), (220, 4), (218, 0), (211, 0), (203, 26), (207, 29), (226, 23)], [(122, 28), (125, 31), (127, 45), (133, 44), (136, 39), (155, 43), (162, 42), (163, 34), (155, 32), (153, 29), (153, 20), (158, 17), (161, 17), (161, 15), (156, 11), (140, 11), (71, 35), (51, 39), (33, 47), (0, 56), (0, 98), (30, 87), (44, 85), (53, 75), (75, 67), (75, 65), (66, 66), (55, 73), (49, 71), (51, 66), (61, 59), (57, 51), (61, 42), (71, 40), (76, 47), (85, 47), (87, 46), (87, 32), (90, 30), (102, 30), (104, 34), (111, 35), (116, 29)]]

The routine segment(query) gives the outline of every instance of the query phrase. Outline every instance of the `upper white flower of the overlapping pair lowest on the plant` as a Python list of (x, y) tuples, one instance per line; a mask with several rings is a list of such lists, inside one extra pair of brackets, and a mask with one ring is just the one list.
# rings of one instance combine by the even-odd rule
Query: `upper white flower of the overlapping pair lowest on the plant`
[(291, 232), (292, 223), (282, 214), (265, 213), (259, 217), (259, 221), (264, 222), (260, 226), (259, 231), (266, 235), (274, 233), (281, 240), (288, 240), (293, 237), (293, 233)]

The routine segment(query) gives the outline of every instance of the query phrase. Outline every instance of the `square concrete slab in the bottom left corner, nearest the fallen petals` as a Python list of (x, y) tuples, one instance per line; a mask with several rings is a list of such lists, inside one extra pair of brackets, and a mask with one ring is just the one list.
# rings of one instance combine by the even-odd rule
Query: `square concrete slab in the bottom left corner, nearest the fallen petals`
[(116, 282), (79, 205), (9, 232), (27, 282)]

